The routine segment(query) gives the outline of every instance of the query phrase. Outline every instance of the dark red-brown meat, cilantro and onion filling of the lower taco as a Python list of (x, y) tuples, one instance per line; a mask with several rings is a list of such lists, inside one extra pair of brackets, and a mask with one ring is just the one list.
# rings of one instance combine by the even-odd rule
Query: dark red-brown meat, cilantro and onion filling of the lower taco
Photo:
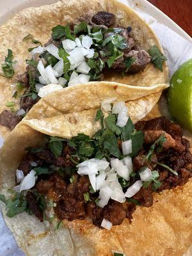
[(97, 111), (95, 120), (103, 124), (92, 138), (46, 135), (43, 148), (28, 148), (9, 199), (18, 207), (0, 196), (8, 216), (27, 211), (40, 221), (90, 220), (110, 229), (125, 218), (131, 222), (136, 207), (151, 207), (154, 191), (188, 182), (192, 154), (180, 125), (164, 117), (133, 125), (124, 102), (101, 106), (108, 115)]

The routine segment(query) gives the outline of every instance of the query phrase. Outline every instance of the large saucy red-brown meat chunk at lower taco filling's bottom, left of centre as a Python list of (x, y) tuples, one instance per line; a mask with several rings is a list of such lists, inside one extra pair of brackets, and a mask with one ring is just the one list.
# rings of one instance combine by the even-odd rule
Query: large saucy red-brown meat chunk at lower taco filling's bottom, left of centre
[(63, 200), (60, 200), (55, 208), (56, 216), (59, 220), (75, 220), (83, 218), (85, 214), (84, 203), (76, 200), (70, 196), (65, 196)]

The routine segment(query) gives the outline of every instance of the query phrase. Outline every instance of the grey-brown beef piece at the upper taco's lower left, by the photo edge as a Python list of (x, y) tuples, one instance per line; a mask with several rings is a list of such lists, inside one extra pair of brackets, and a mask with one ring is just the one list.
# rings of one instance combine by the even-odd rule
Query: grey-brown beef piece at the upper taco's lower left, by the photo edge
[(12, 113), (9, 110), (3, 110), (0, 114), (0, 125), (4, 125), (11, 130), (15, 128), (15, 126), (22, 120), (21, 116), (18, 116), (15, 113)]

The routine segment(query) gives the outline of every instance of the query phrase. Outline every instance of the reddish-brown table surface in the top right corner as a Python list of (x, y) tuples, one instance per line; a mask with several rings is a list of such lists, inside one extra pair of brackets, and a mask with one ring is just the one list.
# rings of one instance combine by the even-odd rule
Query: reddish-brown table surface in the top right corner
[(192, 36), (192, 0), (148, 0)]

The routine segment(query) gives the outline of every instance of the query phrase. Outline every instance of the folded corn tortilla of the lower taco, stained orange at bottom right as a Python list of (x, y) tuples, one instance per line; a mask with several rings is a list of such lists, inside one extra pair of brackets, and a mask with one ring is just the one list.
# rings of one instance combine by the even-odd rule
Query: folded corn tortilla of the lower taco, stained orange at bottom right
[[(126, 90), (125, 96), (124, 93), (120, 93), (124, 92), (124, 87), (119, 86), (118, 91), (115, 90), (116, 101), (126, 101), (129, 115), (134, 118), (134, 122), (143, 117), (147, 118), (146, 115), (151, 109), (143, 111), (143, 106), (149, 106), (152, 97), (156, 99), (156, 89), (153, 88), (154, 93), (149, 95), (146, 95), (143, 89), (141, 98), (136, 99), (137, 94), (134, 90), (140, 88), (131, 86)], [(94, 115), (100, 102), (108, 99), (108, 90), (111, 88), (98, 85), (97, 92), (101, 90), (102, 93), (97, 97), (95, 90), (91, 89), (95, 87), (91, 86), (90, 93), (85, 94), (88, 84), (84, 86), (84, 90), (81, 88), (81, 85), (77, 88), (68, 88), (60, 93), (52, 93), (52, 97), (48, 95), (41, 99), (11, 132), (0, 152), (0, 194), (8, 195), (7, 189), (14, 186), (15, 169), (24, 156), (24, 148), (43, 143), (41, 132), (71, 138), (79, 132), (91, 136), (99, 129), (99, 123), (95, 122)], [(84, 100), (82, 105), (81, 98)], [(154, 102), (151, 106), (154, 106)], [(46, 112), (46, 108), (49, 111)], [(159, 115), (161, 113), (157, 107), (150, 111), (150, 118)], [(188, 139), (192, 143), (191, 138), (192, 135), (188, 134)], [(182, 188), (154, 193), (152, 207), (137, 207), (132, 223), (125, 219), (122, 225), (112, 227), (111, 230), (95, 227), (88, 220), (64, 220), (63, 227), (55, 231), (54, 227), (46, 227), (34, 216), (24, 212), (14, 218), (8, 218), (4, 205), (1, 205), (6, 224), (19, 246), (29, 256), (112, 256), (111, 250), (124, 252), (127, 256), (181, 256), (192, 242), (191, 185), (190, 180)], [(55, 226), (56, 224), (54, 223)]]

